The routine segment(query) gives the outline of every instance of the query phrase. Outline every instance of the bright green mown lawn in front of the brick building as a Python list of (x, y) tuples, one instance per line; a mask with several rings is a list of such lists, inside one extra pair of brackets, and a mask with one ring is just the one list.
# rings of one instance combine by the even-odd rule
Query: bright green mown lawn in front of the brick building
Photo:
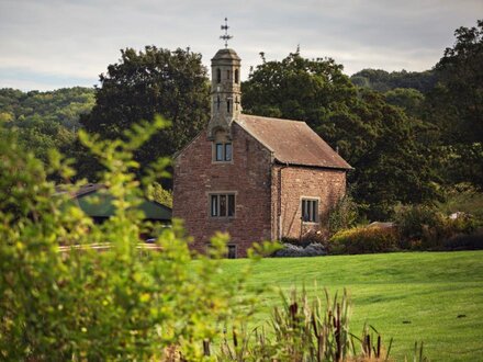
[[(245, 263), (229, 260), (224, 269), (236, 273)], [(255, 324), (280, 304), (280, 289), (305, 285), (315, 295), (315, 282), (322, 298), (324, 286), (332, 295), (346, 287), (352, 332), (368, 323), (386, 342), (393, 337), (397, 361), (413, 357), (415, 341), (431, 361), (483, 360), (483, 251), (265, 259), (249, 280), (266, 287)]]

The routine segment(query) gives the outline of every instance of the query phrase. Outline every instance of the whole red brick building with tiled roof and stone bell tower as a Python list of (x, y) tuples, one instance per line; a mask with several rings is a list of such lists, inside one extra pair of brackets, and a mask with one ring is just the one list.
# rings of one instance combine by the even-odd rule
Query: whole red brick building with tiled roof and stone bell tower
[(231, 235), (228, 258), (255, 241), (318, 230), (346, 192), (350, 166), (305, 122), (242, 114), (240, 58), (212, 59), (211, 120), (175, 157), (173, 217), (204, 251)]

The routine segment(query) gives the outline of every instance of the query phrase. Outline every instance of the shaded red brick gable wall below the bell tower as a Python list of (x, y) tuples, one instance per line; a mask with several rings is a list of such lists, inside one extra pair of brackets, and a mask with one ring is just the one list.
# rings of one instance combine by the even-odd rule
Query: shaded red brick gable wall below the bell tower
[[(213, 163), (212, 143), (203, 132), (176, 159), (173, 217), (184, 219), (193, 247), (204, 251), (215, 231), (227, 231), (245, 257), (254, 241), (271, 238), (271, 154), (233, 124), (233, 162)], [(210, 216), (210, 192), (236, 192), (235, 217)]]

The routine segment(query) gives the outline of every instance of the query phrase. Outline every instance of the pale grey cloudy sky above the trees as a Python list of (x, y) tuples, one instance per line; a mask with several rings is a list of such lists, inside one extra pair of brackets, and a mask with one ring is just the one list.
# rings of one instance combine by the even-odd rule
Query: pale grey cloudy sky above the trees
[(145, 45), (190, 47), (209, 67), (225, 16), (242, 79), (260, 52), (281, 60), (297, 46), (347, 75), (422, 71), (482, 15), (483, 0), (0, 0), (0, 88), (92, 87), (120, 49)]

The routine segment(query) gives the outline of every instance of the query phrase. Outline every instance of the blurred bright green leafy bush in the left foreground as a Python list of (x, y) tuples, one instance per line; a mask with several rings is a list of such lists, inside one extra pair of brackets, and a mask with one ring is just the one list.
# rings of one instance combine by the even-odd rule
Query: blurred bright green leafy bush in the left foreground
[[(135, 126), (125, 142), (81, 133), (106, 168), (101, 179), (115, 200), (115, 215), (102, 225), (56, 195), (42, 163), (0, 129), (2, 360), (159, 360), (175, 349), (198, 361), (202, 341), (234, 318), (235, 302), (244, 304), (246, 272), (221, 274), (226, 236), (212, 240), (211, 256), (192, 262), (188, 238), (175, 224), (158, 235), (162, 252), (139, 253), (148, 225), (135, 207), (143, 195), (132, 157), (162, 124)], [(164, 166), (159, 161), (153, 173)], [(55, 152), (48, 171), (72, 176)], [(63, 253), (59, 245), (71, 248)]]

